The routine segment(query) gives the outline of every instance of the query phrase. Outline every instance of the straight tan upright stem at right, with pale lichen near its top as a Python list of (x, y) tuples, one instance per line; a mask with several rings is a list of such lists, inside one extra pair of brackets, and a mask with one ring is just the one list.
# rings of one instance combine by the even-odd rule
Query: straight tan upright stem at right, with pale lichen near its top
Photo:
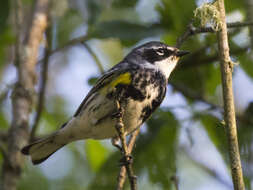
[(244, 190), (243, 173), (237, 140), (236, 116), (234, 107), (234, 95), (232, 88), (233, 63), (229, 56), (229, 45), (227, 36), (226, 13), (224, 0), (218, 0), (218, 9), (222, 22), (221, 29), (218, 31), (218, 45), (220, 53), (220, 67), (224, 101), (224, 118), (229, 146), (230, 167), (235, 190)]

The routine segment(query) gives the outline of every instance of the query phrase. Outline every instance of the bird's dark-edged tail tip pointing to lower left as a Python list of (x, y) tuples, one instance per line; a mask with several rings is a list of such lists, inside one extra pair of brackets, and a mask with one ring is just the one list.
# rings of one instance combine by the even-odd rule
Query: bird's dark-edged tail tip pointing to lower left
[(22, 148), (21, 152), (30, 155), (33, 164), (40, 164), (65, 144), (57, 143), (57, 132), (47, 138), (36, 141)]

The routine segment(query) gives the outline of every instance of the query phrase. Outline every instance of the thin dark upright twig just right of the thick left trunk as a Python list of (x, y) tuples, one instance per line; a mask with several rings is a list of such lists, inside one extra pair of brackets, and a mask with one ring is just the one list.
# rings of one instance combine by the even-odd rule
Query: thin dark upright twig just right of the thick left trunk
[(36, 115), (35, 115), (34, 123), (32, 125), (32, 130), (31, 130), (31, 133), (30, 133), (30, 142), (32, 142), (35, 138), (35, 133), (36, 133), (37, 128), (39, 126), (39, 121), (40, 121), (42, 110), (43, 110), (43, 107), (44, 107), (49, 57), (50, 57), (50, 52), (51, 52), (51, 48), (52, 48), (51, 27), (48, 27), (47, 30), (46, 30), (46, 40), (47, 40), (47, 44), (46, 44), (46, 47), (45, 47), (45, 58), (44, 58), (44, 61), (42, 63), (42, 70), (41, 70), (41, 85), (40, 85)]

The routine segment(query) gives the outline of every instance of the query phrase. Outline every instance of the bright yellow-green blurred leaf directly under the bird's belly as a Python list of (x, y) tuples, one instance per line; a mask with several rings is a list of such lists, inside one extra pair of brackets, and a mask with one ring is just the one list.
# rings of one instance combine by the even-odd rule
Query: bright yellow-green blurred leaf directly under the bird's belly
[(108, 156), (107, 149), (96, 140), (85, 141), (85, 151), (88, 163), (94, 172), (97, 172)]

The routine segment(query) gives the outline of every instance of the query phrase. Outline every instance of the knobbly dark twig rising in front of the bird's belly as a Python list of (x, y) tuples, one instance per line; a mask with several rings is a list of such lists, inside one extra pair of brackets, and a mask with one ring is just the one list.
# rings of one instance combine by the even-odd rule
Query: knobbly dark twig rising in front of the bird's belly
[(123, 165), (126, 168), (128, 179), (130, 182), (130, 187), (131, 190), (137, 190), (137, 182), (136, 182), (136, 176), (134, 175), (133, 168), (132, 168), (132, 157), (128, 151), (127, 148), (127, 143), (126, 143), (126, 136), (125, 136), (125, 131), (124, 131), (124, 124), (122, 120), (122, 116), (124, 114), (124, 110), (122, 109), (120, 102), (116, 100), (116, 106), (117, 106), (117, 112), (118, 112), (118, 117), (117, 117), (117, 123), (116, 123), (116, 130), (118, 132), (120, 141), (121, 141), (121, 146), (122, 146), (122, 155), (123, 155)]

